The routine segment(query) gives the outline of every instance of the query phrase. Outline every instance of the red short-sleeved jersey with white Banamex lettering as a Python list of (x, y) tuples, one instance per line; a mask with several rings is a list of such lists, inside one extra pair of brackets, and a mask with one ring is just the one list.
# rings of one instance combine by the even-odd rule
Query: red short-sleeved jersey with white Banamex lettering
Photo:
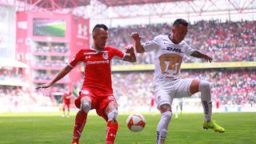
[(113, 94), (110, 61), (114, 56), (123, 59), (125, 54), (112, 46), (105, 46), (104, 50), (82, 49), (74, 56), (70, 66), (74, 68), (83, 62), (85, 77), (82, 89), (93, 90), (98, 96)]

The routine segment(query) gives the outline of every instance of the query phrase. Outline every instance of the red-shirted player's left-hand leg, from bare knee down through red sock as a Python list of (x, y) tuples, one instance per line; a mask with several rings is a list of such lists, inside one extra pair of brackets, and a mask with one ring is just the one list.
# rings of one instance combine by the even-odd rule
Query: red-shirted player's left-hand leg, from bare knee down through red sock
[(85, 97), (82, 97), (80, 101), (81, 101), (80, 110), (78, 110), (78, 113), (74, 120), (74, 132), (73, 132), (73, 140), (72, 140), (72, 143), (77, 143), (77, 144), (82, 134), (82, 130), (86, 125), (86, 118), (87, 118), (87, 114), (91, 109), (92, 100), (90, 97), (85, 96)]

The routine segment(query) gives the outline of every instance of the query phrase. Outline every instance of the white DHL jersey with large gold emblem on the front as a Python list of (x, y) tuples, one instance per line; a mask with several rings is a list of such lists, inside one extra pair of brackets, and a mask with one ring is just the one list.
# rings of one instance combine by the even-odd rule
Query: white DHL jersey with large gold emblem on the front
[(142, 43), (145, 51), (154, 50), (154, 84), (162, 81), (174, 81), (181, 77), (181, 65), (184, 54), (194, 52), (184, 40), (174, 44), (169, 35), (158, 35)]

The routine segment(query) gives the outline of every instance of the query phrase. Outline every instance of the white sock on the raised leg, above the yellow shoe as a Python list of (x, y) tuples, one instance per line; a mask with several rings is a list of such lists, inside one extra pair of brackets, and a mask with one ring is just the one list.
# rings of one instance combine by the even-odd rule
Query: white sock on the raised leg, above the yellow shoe
[(201, 92), (202, 107), (205, 113), (205, 121), (211, 120), (212, 114), (212, 102), (210, 96), (210, 83), (201, 81), (198, 86), (198, 90)]

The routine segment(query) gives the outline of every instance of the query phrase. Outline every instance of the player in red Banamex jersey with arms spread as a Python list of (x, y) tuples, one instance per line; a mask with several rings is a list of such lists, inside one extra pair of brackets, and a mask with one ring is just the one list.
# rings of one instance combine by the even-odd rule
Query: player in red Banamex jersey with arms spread
[(78, 63), (85, 64), (85, 79), (82, 90), (74, 104), (80, 110), (76, 115), (74, 122), (74, 134), (72, 143), (79, 142), (83, 127), (86, 124), (87, 114), (91, 109), (96, 109), (99, 116), (106, 120), (106, 144), (114, 143), (118, 130), (118, 104), (113, 95), (110, 60), (120, 58), (127, 62), (136, 62), (134, 48), (126, 48), (122, 52), (113, 46), (106, 46), (108, 38), (108, 28), (103, 24), (94, 26), (93, 46), (90, 49), (82, 49), (75, 55), (69, 65), (61, 70), (58, 75), (50, 82), (36, 87), (47, 88), (63, 78)]

